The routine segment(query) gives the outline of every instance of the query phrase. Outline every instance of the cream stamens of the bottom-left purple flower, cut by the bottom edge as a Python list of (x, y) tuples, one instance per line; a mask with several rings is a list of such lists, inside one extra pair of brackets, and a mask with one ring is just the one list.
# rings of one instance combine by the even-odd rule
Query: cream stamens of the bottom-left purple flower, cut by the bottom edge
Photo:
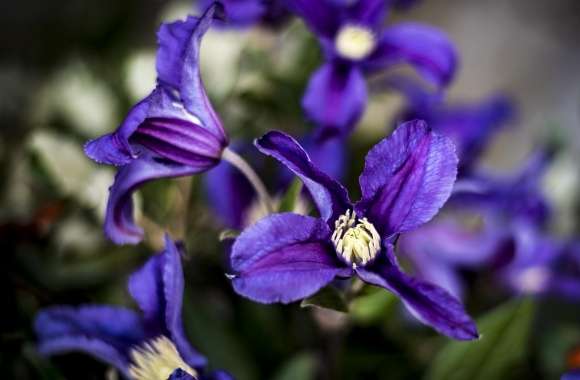
[(132, 380), (167, 380), (178, 368), (197, 378), (197, 372), (183, 361), (177, 348), (165, 336), (155, 338), (130, 353)]

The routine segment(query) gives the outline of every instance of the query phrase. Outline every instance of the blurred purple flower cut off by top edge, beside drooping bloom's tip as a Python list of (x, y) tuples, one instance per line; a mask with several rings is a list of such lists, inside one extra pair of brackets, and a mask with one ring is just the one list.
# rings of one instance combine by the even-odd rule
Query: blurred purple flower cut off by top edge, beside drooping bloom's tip
[[(206, 9), (213, 0), (201, 0), (200, 9)], [(282, 0), (221, 0), (228, 25), (248, 27), (255, 24), (276, 27), (290, 15)]]

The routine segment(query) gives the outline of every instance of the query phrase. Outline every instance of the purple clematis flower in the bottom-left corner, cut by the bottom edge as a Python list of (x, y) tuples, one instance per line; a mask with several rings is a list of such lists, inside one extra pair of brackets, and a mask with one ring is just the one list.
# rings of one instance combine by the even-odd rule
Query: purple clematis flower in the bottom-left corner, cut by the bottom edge
[(127, 379), (232, 380), (206, 373), (207, 360), (187, 341), (181, 320), (181, 252), (165, 238), (165, 250), (129, 278), (138, 313), (114, 306), (56, 306), (35, 321), (43, 355), (82, 351), (112, 365)]

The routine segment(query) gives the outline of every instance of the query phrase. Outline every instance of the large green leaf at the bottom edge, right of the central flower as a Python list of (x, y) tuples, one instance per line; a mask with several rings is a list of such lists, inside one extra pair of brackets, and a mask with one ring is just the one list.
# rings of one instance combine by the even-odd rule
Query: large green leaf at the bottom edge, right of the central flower
[(477, 341), (448, 343), (428, 371), (429, 380), (506, 378), (526, 355), (534, 315), (531, 299), (514, 300), (482, 317)]

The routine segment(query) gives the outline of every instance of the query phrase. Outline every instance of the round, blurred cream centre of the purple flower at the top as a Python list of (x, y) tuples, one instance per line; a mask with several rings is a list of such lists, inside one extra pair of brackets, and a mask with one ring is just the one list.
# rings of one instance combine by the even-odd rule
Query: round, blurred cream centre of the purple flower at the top
[(374, 50), (376, 40), (373, 32), (364, 26), (346, 25), (338, 32), (334, 44), (344, 58), (360, 60)]

